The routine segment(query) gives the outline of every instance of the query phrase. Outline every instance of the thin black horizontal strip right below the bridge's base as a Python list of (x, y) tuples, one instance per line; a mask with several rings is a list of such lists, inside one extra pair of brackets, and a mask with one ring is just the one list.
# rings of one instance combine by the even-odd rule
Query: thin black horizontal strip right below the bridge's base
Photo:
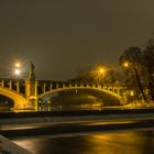
[(0, 119), (14, 118), (40, 118), (40, 117), (82, 117), (82, 116), (108, 116), (108, 114), (139, 114), (154, 113), (154, 109), (108, 109), (108, 110), (74, 110), (74, 111), (24, 111), (0, 112)]

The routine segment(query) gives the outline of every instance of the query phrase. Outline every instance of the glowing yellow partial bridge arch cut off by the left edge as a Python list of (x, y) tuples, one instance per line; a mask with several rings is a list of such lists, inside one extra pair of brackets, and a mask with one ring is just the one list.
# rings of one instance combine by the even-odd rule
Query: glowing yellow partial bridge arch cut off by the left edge
[(0, 87), (0, 95), (12, 99), (14, 101), (14, 109), (26, 108), (26, 99), (22, 95), (2, 87)]

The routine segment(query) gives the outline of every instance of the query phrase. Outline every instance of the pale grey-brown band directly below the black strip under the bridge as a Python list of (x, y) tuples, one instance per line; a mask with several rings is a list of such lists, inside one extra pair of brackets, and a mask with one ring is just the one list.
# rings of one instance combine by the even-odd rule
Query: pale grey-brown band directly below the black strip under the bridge
[(78, 116), (78, 117), (36, 117), (36, 118), (14, 118), (0, 119), (0, 129), (11, 128), (11, 125), (33, 125), (33, 124), (57, 124), (57, 123), (78, 123), (78, 122), (110, 122), (128, 120), (154, 120), (154, 113), (135, 114), (105, 114), (105, 116)]

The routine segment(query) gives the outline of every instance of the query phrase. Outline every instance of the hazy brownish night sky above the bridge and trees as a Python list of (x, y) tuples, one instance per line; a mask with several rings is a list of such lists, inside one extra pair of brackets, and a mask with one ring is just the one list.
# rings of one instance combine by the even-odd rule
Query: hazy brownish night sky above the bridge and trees
[(153, 32), (154, 0), (0, 0), (0, 77), (20, 59), (38, 79), (69, 79), (78, 67), (117, 64)]

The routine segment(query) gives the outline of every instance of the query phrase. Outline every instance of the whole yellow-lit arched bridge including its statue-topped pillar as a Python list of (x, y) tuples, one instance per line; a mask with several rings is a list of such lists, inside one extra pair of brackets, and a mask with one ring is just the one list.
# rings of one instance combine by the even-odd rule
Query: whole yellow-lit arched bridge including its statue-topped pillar
[(36, 80), (34, 67), (26, 79), (0, 79), (0, 95), (14, 101), (14, 109), (37, 109), (37, 100), (47, 95), (66, 90), (96, 89), (124, 102), (124, 86), (97, 82)]

